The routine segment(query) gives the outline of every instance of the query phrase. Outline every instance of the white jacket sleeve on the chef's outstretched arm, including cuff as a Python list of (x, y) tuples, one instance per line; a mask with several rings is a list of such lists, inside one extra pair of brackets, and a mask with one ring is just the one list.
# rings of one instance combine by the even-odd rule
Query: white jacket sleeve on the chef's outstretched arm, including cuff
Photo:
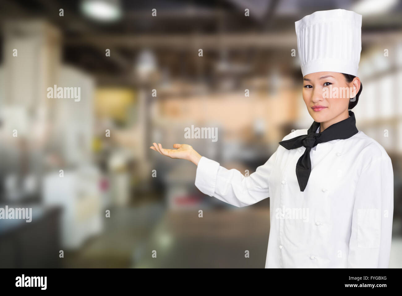
[(195, 186), (202, 193), (236, 207), (252, 205), (269, 197), (268, 181), (276, 156), (277, 151), (247, 177), (236, 169), (227, 170), (203, 156), (197, 165)]

